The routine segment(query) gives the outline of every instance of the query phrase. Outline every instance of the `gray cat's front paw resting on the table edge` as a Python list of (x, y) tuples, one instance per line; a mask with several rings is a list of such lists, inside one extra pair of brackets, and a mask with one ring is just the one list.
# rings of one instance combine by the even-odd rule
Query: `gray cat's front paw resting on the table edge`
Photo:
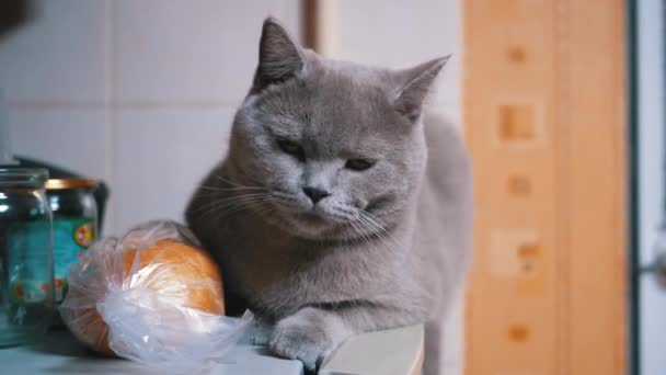
[(280, 320), (271, 337), (273, 353), (303, 363), (310, 371), (317, 370), (334, 349), (325, 325), (313, 325), (308, 319), (292, 316)]

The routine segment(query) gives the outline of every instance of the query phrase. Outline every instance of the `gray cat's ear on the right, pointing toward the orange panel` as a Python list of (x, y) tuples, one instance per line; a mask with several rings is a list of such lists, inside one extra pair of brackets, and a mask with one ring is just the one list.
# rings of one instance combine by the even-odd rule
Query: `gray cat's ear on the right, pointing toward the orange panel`
[(435, 78), (450, 57), (451, 55), (448, 55), (423, 63), (411, 69), (398, 71), (401, 87), (393, 98), (395, 110), (411, 122), (418, 120), (423, 111), (423, 103), (435, 82)]

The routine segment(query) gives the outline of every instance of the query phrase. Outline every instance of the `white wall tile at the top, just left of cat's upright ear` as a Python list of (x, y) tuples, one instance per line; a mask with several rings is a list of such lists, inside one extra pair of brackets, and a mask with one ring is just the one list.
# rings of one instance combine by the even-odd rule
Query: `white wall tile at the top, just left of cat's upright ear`
[(117, 102), (236, 105), (252, 81), (263, 20), (296, 22), (285, 14), (296, 2), (114, 1)]

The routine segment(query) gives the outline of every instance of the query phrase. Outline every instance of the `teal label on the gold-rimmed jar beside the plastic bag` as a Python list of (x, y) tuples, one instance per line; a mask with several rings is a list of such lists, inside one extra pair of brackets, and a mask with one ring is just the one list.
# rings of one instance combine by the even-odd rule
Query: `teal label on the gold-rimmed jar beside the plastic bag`
[(91, 218), (54, 219), (54, 274), (56, 303), (67, 294), (67, 272), (96, 238), (95, 221)]

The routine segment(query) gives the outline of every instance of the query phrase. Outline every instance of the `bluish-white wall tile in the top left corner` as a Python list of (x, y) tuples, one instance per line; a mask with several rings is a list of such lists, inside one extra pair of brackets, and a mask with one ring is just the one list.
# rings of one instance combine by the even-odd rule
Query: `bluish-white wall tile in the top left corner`
[(103, 1), (37, 0), (32, 21), (0, 39), (0, 89), (10, 103), (103, 103)]

